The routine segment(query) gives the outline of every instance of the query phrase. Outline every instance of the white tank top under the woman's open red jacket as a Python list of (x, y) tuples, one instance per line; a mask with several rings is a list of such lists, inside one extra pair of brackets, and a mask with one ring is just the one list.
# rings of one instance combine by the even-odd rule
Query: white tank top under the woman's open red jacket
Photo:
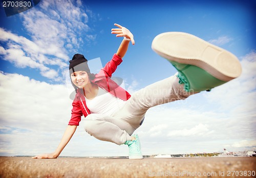
[[(86, 97), (85, 97), (86, 98)], [(86, 98), (86, 105), (91, 113), (104, 114), (111, 116), (125, 104), (120, 98), (114, 97), (110, 93), (99, 87), (98, 94), (95, 98), (89, 100)]]

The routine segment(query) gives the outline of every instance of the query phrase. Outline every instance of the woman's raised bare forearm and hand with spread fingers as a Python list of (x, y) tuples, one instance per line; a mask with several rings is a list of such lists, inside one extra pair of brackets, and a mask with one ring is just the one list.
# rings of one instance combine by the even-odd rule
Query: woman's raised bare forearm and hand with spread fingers
[(116, 35), (117, 37), (126, 38), (126, 40), (125, 39), (122, 40), (122, 42), (117, 50), (117, 53), (116, 53), (119, 57), (123, 58), (123, 56), (125, 55), (128, 47), (129, 47), (130, 40), (132, 41), (132, 44), (135, 44), (135, 41), (133, 38), (133, 34), (128, 29), (126, 29), (125, 27), (122, 27), (118, 24), (114, 24), (114, 25), (117, 26), (118, 28), (112, 29), (111, 33), (117, 34)]

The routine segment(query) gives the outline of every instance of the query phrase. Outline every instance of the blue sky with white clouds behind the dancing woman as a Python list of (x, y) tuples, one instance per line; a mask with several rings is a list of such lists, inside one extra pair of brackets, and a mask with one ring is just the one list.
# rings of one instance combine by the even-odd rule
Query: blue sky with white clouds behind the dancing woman
[[(136, 131), (144, 154), (254, 149), (255, 6), (255, 1), (41, 0), (9, 17), (0, 8), (0, 155), (55, 150), (71, 116), (68, 61), (84, 54), (97, 72), (122, 40), (111, 34), (114, 23), (135, 37), (115, 73), (130, 93), (176, 73), (151, 49), (154, 37), (167, 31), (214, 43), (236, 55), (243, 68), (239, 78), (211, 92), (148, 110)], [(79, 126), (61, 155), (127, 155), (127, 148), (98, 141)]]

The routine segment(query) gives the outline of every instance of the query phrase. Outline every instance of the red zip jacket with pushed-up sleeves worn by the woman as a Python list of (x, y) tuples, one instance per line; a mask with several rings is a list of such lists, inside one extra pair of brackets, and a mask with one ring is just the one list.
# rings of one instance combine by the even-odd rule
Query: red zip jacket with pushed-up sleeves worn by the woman
[[(127, 101), (131, 95), (111, 79), (112, 74), (116, 71), (117, 66), (121, 62), (122, 58), (114, 54), (111, 61), (106, 63), (104, 68), (102, 68), (100, 72), (95, 75), (95, 78), (91, 80), (91, 82), (97, 84), (99, 87), (101, 87), (106, 92), (109, 92), (113, 96)], [(79, 125), (82, 115), (87, 117), (91, 114), (86, 105), (86, 100), (82, 89), (77, 90), (72, 106), (72, 116), (69, 121), (69, 125)]]

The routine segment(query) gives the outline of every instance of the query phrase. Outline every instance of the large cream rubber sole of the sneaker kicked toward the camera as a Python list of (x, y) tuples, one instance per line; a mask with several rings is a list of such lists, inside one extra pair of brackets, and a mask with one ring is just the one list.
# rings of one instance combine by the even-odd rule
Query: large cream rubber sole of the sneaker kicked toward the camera
[(152, 49), (171, 63), (196, 65), (225, 82), (242, 72), (238, 58), (232, 53), (188, 33), (159, 34), (152, 42)]

